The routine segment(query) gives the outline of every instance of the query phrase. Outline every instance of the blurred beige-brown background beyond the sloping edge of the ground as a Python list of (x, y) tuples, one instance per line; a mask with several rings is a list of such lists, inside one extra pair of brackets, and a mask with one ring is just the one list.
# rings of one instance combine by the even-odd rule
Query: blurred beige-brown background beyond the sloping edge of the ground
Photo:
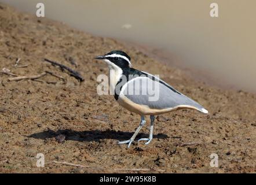
[[(195, 77), (256, 92), (255, 0), (0, 0), (93, 35), (148, 47), (170, 65), (196, 69)], [(218, 3), (219, 17), (210, 17)]]

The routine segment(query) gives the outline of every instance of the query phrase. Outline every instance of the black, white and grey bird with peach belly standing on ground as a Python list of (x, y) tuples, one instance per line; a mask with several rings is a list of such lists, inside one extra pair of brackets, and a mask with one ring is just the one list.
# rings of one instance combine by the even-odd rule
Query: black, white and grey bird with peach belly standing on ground
[[(114, 50), (94, 59), (107, 63), (109, 74), (112, 74), (109, 85), (119, 105), (141, 117), (140, 124), (133, 136), (128, 140), (119, 141), (120, 145), (127, 144), (128, 148), (131, 146), (138, 132), (146, 123), (145, 116), (150, 116), (149, 137), (138, 139), (138, 142), (144, 141), (145, 145), (148, 145), (153, 139), (156, 115), (185, 108), (195, 109), (205, 114), (209, 113), (198, 102), (175, 90), (158, 76), (134, 69), (131, 65), (131, 58), (125, 51)], [(158, 92), (155, 100), (152, 98), (152, 93), (146, 92), (146, 90), (153, 89), (153, 86), (157, 87), (156, 92)]]

